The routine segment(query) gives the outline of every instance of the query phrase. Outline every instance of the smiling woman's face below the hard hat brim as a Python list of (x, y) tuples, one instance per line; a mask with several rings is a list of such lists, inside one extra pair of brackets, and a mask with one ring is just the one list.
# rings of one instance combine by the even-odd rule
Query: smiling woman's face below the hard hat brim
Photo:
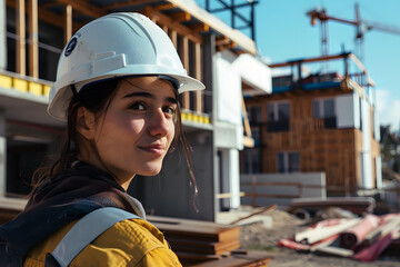
[(170, 82), (158, 77), (121, 80), (93, 126), (92, 139), (106, 168), (121, 181), (159, 174), (174, 137), (177, 108)]

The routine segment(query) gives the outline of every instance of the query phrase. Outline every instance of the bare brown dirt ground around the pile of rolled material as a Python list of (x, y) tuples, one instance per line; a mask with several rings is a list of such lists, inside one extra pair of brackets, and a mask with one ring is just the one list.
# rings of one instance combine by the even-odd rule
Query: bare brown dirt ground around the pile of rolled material
[(276, 244), (279, 239), (291, 237), (294, 233), (306, 229), (308, 224), (280, 209), (267, 211), (266, 215), (272, 217), (273, 226), (267, 228), (262, 222), (243, 225), (240, 241), (243, 249), (266, 251), (272, 258), (269, 267), (400, 267), (400, 251), (398, 258), (383, 254), (373, 263), (361, 263), (349, 258), (302, 254), (278, 247)]

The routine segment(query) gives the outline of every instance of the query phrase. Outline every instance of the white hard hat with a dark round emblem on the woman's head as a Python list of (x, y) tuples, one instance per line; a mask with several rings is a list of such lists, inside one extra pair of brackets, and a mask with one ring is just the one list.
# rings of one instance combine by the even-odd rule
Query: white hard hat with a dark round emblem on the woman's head
[(48, 112), (67, 119), (73, 96), (93, 81), (127, 76), (158, 75), (176, 81), (178, 92), (202, 90), (189, 77), (167, 33), (140, 13), (110, 13), (73, 34), (58, 63)]

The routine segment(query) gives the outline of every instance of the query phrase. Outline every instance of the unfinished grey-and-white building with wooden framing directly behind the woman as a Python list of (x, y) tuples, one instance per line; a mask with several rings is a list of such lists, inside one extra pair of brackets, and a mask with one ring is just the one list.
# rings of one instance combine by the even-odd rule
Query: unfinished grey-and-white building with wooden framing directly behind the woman
[(220, 209), (240, 205), (239, 150), (252, 146), (243, 136), (242, 91), (269, 92), (271, 79), (256, 58), (254, 41), (193, 0), (0, 0), (0, 204), (23, 205), (33, 170), (62, 137), (63, 122), (46, 108), (64, 43), (87, 22), (120, 11), (158, 23), (188, 73), (207, 86), (181, 98), (200, 211), (191, 208), (179, 149), (159, 176), (133, 179), (130, 191), (150, 214), (212, 221)]

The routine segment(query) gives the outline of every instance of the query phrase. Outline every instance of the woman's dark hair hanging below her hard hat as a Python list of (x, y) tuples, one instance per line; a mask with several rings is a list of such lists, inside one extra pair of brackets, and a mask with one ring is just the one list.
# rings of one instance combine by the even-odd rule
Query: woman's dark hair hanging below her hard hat
[[(79, 93), (76, 93), (72, 97), (67, 111), (67, 131), (66, 137), (63, 138), (63, 145), (59, 151), (59, 155), (57, 156), (56, 161), (52, 165), (40, 167), (36, 170), (36, 172), (33, 174), (33, 187), (37, 187), (44, 178), (51, 179), (51, 177), (64, 174), (67, 171), (70, 165), (77, 159), (77, 155), (79, 152), (78, 140), (79, 138), (81, 138), (81, 136), (76, 129), (78, 108), (86, 107), (89, 111), (93, 112), (97, 118), (101, 113), (107, 112), (112, 99), (116, 96), (120, 81), (121, 79), (98, 81), (86, 86), (79, 91)], [(177, 90), (174, 90), (174, 92), (176, 95), (178, 95)], [(174, 150), (178, 147), (179, 141), (181, 142), (189, 167), (189, 174), (191, 177), (190, 185), (193, 188), (193, 197), (196, 198), (198, 192), (197, 182), (189, 155), (190, 146), (183, 135), (179, 102), (174, 118), (174, 127), (176, 136), (171, 144), (170, 151)], [(101, 160), (101, 157), (97, 152), (96, 146), (93, 144), (92, 149)], [(193, 207), (197, 210), (196, 205), (193, 205)]]

